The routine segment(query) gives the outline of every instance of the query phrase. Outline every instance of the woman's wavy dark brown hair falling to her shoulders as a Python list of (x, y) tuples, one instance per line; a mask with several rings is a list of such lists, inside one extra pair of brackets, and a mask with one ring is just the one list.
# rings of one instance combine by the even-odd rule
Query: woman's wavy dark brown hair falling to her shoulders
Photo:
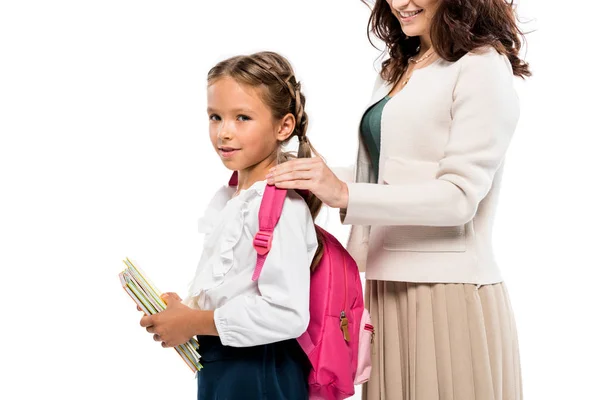
[[(369, 5), (367, 0), (362, 2)], [(381, 77), (396, 82), (406, 71), (409, 58), (418, 53), (419, 37), (404, 34), (386, 0), (375, 0), (369, 31), (369, 40), (371, 33), (375, 34), (390, 56), (382, 63)], [(433, 48), (446, 61), (457, 61), (470, 51), (491, 46), (508, 57), (515, 76), (531, 76), (529, 65), (519, 58), (525, 36), (517, 26), (513, 0), (440, 0), (430, 34)]]

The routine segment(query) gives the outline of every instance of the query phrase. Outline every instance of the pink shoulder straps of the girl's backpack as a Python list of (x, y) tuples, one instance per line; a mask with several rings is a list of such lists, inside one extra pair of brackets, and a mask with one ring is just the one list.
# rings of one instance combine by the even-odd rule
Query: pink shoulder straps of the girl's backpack
[[(229, 186), (237, 186), (238, 174), (235, 171), (229, 179)], [(279, 222), (283, 203), (287, 196), (286, 189), (279, 189), (272, 185), (265, 187), (260, 209), (258, 211), (258, 233), (254, 236), (254, 248), (256, 249), (256, 267), (252, 274), (252, 280), (256, 281), (265, 264), (265, 260), (273, 242), (273, 231)]]

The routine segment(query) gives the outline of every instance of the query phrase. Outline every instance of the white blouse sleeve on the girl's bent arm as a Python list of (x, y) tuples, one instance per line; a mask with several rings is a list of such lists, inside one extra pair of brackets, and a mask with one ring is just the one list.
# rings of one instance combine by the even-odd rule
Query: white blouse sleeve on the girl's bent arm
[(258, 279), (260, 295), (239, 295), (215, 310), (223, 345), (257, 346), (294, 339), (306, 331), (316, 249), (310, 211), (300, 196), (290, 193)]

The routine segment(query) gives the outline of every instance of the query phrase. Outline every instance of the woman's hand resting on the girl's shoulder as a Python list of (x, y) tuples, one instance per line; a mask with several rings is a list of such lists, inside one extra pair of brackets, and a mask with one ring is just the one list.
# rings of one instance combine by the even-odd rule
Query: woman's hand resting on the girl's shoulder
[(348, 207), (348, 185), (321, 157), (299, 158), (277, 165), (269, 170), (267, 183), (282, 189), (310, 190), (329, 207)]

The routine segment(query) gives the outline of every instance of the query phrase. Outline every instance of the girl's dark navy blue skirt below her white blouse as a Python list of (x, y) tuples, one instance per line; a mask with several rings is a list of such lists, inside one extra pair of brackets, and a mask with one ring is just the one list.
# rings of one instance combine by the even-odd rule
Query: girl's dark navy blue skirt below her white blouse
[(223, 346), (217, 336), (198, 342), (198, 400), (308, 399), (310, 364), (296, 340), (254, 347)]

